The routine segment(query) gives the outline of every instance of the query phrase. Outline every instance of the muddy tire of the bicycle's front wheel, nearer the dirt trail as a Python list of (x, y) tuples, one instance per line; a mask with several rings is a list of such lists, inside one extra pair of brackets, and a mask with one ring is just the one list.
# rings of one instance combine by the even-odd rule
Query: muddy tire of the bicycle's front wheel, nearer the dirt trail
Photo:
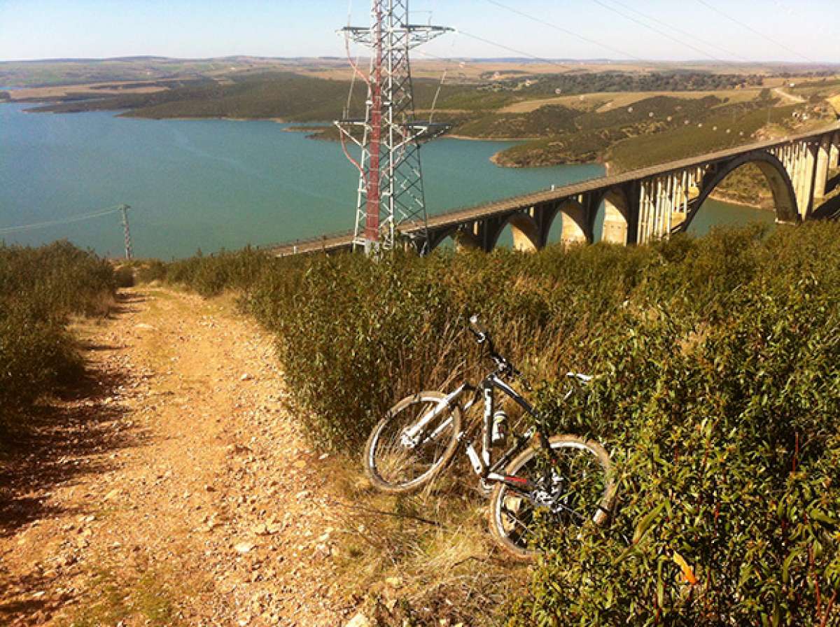
[[(365, 457), (363, 464), (365, 467), (365, 475), (376, 489), (380, 489), (383, 492), (389, 492), (391, 494), (407, 494), (414, 492), (436, 478), (441, 470), (443, 470), (451, 461), (452, 457), (454, 457), (455, 450), (458, 447), (458, 434), (461, 431), (461, 411), (458, 406), (452, 407), (449, 412), (444, 412), (444, 414), (440, 417), (443, 418), (443, 420), (438, 418), (433, 422), (434, 425), (440, 426), (444, 420), (451, 418), (451, 423), (446, 427), (445, 436), (443, 434), (440, 436), (441, 440), (445, 440), (445, 446), (440, 447), (438, 444), (439, 455), (434, 457), (432, 462), (428, 463), (428, 468), (423, 470), (423, 473), (420, 473), (419, 476), (409, 478), (406, 481), (396, 481), (393, 478), (384, 476), (382, 472), (384, 462), (382, 460), (377, 462), (377, 458), (387, 452), (383, 451), (383, 447), (386, 445), (383, 434), (385, 434), (387, 427), (398, 426), (396, 422), (401, 420), (401, 416), (404, 412), (412, 410), (414, 405), (418, 406), (417, 409), (423, 409), (423, 405), (425, 405), (425, 410), (415, 417), (414, 420), (416, 421), (420, 415), (425, 415), (425, 412), (428, 411), (429, 407), (438, 404), (445, 397), (446, 395), (441, 392), (428, 390), (411, 394), (391, 407), (386, 416), (379, 421), (373, 431), (370, 432), (367, 444), (365, 445)], [(411, 419), (409, 418), (408, 424), (410, 423)], [(407, 450), (407, 447), (402, 447), (402, 451), (396, 450), (396, 453), (404, 455)], [(413, 452), (414, 449), (411, 450)]]

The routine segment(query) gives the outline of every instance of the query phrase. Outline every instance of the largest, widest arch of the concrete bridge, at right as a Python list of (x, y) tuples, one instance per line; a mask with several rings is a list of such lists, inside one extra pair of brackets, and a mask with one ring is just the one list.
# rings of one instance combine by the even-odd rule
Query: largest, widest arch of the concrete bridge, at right
[(774, 154), (770, 154), (764, 150), (756, 150), (740, 154), (735, 159), (722, 163), (710, 175), (706, 176), (706, 179), (701, 184), (700, 196), (697, 196), (695, 208), (685, 217), (685, 222), (681, 227), (682, 230), (685, 231), (690, 226), (697, 212), (700, 211), (703, 203), (715, 191), (717, 185), (720, 185), (728, 175), (731, 175), (732, 172), (738, 170), (742, 165), (748, 164), (757, 165), (767, 180), (770, 192), (773, 194), (776, 221), (790, 224), (801, 222), (793, 181), (790, 180), (790, 175), (785, 170), (785, 165)]

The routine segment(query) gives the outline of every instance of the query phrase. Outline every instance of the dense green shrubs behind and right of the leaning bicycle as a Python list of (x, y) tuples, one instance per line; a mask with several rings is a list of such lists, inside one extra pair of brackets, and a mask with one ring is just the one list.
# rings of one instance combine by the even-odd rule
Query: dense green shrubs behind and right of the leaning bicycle
[[(378, 263), (244, 251), (146, 278), (239, 291), (314, 446), (353, 459), (407, 391), (475, 374), (480, 313), (543, 382), (549, 428), (602, 442), (621, 484), (605, 529), (545, 535), (512, 624), (816, 627), (840, 611), (838, 253), (819, 223)], [(570, 368), (597, 378), (564, 405)]]

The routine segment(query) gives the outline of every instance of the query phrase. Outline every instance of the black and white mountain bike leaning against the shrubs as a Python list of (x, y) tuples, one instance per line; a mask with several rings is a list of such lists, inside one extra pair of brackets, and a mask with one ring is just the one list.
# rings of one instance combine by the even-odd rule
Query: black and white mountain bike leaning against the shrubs
[[(580, 526), (608, 519), (616, 495), (610, 456), (597, 442), (543, 431), (537, 410), (508, 383), (520, 379), (528, 388), (522, 373), (496, 352), (476, 316), (468, 328), (493, 370), (480, 384), (465, 381), (449, 394), (417, 392), (391, 407), (368, 438), (365, 473), (377, 489), (409, 493), (436, 478), (463, 446), (482, 489), (490, 493), (491, 534), (512, 556), (528, 560), (537, 553), (541, 522)], [(568, 380), (565, 400), (591, 377), (570, 373)], [(522, 433), (507, 432), (509, 417), (497, 392), (528, 415), (530, 426)], [(483, 419), (464, 421), (480, 400)]]

